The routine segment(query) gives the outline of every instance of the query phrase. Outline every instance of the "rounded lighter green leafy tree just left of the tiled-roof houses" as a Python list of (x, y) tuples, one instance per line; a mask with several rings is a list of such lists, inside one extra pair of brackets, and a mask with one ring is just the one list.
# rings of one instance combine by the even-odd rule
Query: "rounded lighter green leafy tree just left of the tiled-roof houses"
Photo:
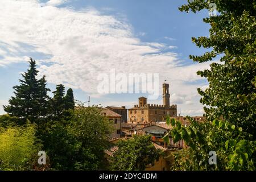
[(109, 145), (109, 135), (113, 131), (113, 123), (101, 114), (101, 108), (80, 106), (80, 109), (74, 111), (69, 129), (81, 146), (75, 156), (75, 169), (100, 169), (104, 161), (104, 150)]

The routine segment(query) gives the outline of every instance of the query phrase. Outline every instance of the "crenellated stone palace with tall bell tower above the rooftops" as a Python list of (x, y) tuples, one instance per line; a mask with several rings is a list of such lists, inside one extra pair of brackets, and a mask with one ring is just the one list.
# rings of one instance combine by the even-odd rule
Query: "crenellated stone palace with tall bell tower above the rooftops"
[(147, 98), (139, 97), (138, 105), (128, 110), (128, 122), (165, 121), (166, 115), (177, 116), (177, 105), (170, 105), (169, 84), (163, 84), (163, 105), (147, 104)]

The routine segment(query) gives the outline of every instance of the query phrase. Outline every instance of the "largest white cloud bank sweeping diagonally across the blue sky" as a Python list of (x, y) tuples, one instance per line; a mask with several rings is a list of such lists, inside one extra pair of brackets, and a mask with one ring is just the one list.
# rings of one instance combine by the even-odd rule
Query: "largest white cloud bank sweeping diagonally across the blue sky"
[[(55, 7), (65, 2), (51, 0), (42, 6), (36, 0), (1, 0), (0, 66), (24, 61), (24, 55), (38, 52), (50, 55), (49, 59), (38, 60), (40, 73), (47, 76), (48, 82), (63, 83), (86, 93), (97, 95), (98, 73), (108, 74), (115, 68), (123, 73), (159, 73), (160, 81), (171, 82), (172, 93), (196, 97), (200, 85), (185, 82), (201, 80), (196, 71), (208, 68), (208, 63), (183, 65), (177, 53), (162, 52), (168, 48), (166, 44), (144, 43), (135, 38), (129, 23), (94, 9)], [(30, 47), (24, 48), (17, 41)], [(192, 100), (184, 97), (182, 103), (191, 104)]]

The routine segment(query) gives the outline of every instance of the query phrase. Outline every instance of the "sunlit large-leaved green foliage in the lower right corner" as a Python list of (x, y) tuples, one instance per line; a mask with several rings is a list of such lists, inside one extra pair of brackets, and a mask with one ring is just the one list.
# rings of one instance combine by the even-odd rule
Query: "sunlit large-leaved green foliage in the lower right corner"
[[(255, 170), (256, 142), (244, 137), (242, 128), (228, 121), (197, 122), (189, 118), (190, 126), (181, 125), (167, 117), (174, 128), (174, 142), (183, 139), (189, 147), (177, 152), (172, 169), (175, 170)], [(164, 140), (168, 142), (167, 134)], [(216, 151), (217, 164), (208, 162), (209, 152)]]

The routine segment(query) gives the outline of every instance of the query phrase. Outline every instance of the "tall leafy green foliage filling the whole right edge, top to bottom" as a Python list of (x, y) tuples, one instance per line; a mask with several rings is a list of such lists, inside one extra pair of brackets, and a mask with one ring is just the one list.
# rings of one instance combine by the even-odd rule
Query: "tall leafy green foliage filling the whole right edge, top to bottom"
[[(189, 146), (175, 155), (173, 169), (255, 170), (256, 2), (193, 0), (180, 10), (210, 10), (209, 3), (215, 3), (218, 11), (218, 15), (203, 19), (211, 26), (209, 37), (192, 41), (211, 51), (190, 58), (203, 63), (218, 56), (221, 63), (197, 72), (209, 81), (206, 90), (198, 89), (200, 102), (207, 105), (207, 122), (191, 119), (191, 126), (183, 127), (178, 121), (169, 121), (175, 126), (172, 137), (184, 139)], [(208, 152), (212, 150), (217, 152), (216, 166), (208, 163)]]

